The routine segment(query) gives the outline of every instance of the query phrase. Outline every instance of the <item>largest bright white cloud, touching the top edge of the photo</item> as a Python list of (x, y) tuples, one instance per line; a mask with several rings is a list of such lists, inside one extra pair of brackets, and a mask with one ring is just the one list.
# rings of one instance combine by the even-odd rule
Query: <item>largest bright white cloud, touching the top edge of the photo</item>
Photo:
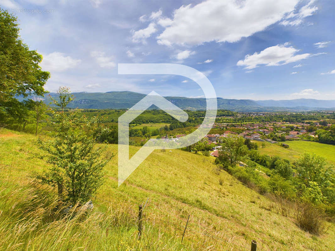
[(236, 42), (262, 31), (294, 10), (298, 0), (208, 0), (181, 6), (157, 43), (198, 45), (204, 42)]

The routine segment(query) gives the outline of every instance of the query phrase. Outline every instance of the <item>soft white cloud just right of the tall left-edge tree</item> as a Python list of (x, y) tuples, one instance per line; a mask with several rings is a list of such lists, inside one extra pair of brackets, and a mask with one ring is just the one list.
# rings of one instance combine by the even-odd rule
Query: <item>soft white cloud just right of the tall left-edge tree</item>
[(76, 67), (80, 62), (80, 59), (73, 59), (64, 53), (53, 52), (43, 56), (41, 67), (45, 71), (61, 72)]

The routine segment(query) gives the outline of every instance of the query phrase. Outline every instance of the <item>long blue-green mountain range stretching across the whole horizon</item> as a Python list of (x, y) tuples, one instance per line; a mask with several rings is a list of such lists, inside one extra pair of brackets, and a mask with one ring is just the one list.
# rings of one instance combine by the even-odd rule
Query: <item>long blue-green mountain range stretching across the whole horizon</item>
[[(57, 93), (50, 93), (57, 96)], [(68, 105), (70, 108), (86, 109), (127, 109), (140, 101), (145, 94), (131, 91), (110, 92), (75, 92), (75, 99)], [(31, 98), (31, 97), (29, 97)], [(182, 109), (203, 110), (206, 108), (205, 98), (165, 97)], [(19, 98), (19, 99), (22, 99)], [(50, 102), (48, 95), (44, 97)], [(320, 110), (335, 107), (335, 100), (293, 99), (293, 100), (249, 100), (217, 98), (218, 109), (233, 111), (286, 111), (286, 110)], [(334, 108), (335, 109), (335, 108)]]

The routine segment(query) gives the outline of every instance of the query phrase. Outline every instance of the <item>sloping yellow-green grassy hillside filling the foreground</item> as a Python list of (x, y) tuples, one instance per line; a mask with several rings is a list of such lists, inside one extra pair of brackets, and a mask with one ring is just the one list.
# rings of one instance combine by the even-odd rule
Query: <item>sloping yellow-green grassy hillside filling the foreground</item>
[[(27, 177), (46, 168), (30, 158), (35, 139), (0, 130), (0, 250), (249, 250), (252, 239), (258, 250), (335, 250), (333, 224), (323, 236), (310, 235), (272, 212), (266, 197), (215, 174), (214, 157), (180, 150), (153, 152), (119, 188), (115, 157), (88, 219), (50, 219), (52, 198), (41, 195), (47, 188)], [(105, 154), (116, 152), (110, 145)], [(137, 241), (138, 204), (147, 198)]]

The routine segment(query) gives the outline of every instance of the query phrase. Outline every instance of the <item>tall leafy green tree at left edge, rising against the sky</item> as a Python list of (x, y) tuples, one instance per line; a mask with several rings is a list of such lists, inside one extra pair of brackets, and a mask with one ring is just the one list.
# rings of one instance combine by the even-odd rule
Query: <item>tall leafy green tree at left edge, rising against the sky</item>
[(0, 106), (8, 107), (16, 95), (43, 96), (50, 73), (39, 66), (42, 55), (29, 50), (20, 39), (17, 18), (2, 9), (0, 27)]

